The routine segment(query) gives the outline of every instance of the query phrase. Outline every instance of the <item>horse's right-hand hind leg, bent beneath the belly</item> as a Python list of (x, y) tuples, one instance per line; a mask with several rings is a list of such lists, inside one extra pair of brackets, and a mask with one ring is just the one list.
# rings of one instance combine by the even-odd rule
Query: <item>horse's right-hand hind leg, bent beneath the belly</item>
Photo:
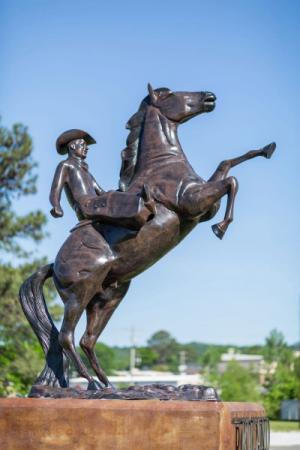
[(129, 284), (130, 282), (127, 282), (114, 288), (106, 288), (102, 294), (96, 295), (86, 308), (87, 325), (80, 340), (80, 346), (90, 361), (98, 379), (105, 386), (108, 386), (110, 383), (97, 360), (94, 348), (113, 312), (126, 295)]

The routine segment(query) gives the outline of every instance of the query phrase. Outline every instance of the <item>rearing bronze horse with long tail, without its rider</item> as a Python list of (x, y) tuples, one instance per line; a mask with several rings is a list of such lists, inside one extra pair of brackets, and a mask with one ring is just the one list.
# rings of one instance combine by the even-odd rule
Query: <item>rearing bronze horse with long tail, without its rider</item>
[[(76, 226), (55, 259), (40, 268), (20, 290), (23, 310), (46, 356), (46, 365), (35, 384), (67, 387), (71, 360), (89, 389), (101, 387), (83, 364), (74, 344), (74, 330), (86, 310), (87, 325), (80, 345), (99, 381), (109, 381), (97, 361), (94, 346), (113, 312), (125, 296), (131, 279), (175, 247), (199, 222), (215, 216), (227, 196), (224, 219), (213, 225), (223, 238), (233, 220), (238, 190), (229, 170), (251, 158), (270, 158), (275, 143), (223, 161), (208, 181), (195, 173), (180, 145), (177, 128), (204, 112), (213, 111), (211, 92), (153, 90), (128, 121), (127, 147), (122, 152), (120, 190), (140, 193), (147, 185), (156, 203), (156, 214), (137, 232), (97, 220)], [(87, 211), (88, 214), (88, 211)], [(64, 302), (60, 332), (49, 315), (43, 284), (53, 277)]]

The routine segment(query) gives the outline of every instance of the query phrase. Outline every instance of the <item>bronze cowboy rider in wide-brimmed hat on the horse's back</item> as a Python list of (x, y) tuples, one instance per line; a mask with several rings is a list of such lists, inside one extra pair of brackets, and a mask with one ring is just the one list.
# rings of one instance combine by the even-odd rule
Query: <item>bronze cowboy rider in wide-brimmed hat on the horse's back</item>
[(64, 189), (79, 221), (98, 220), (133, 229), (141, 228), (155, 213), (155, 204), (147, 186), (144, 186), (140, 195), (118, 191), (105, 192), (84, 161), (88, 145), (95, 143), (92, 136), (78, 129), (65, 131), (58, 137), (56, 150), (60, 155), (68, 153), (68, 158), (57, 166), (52, 182), (52, 216), (63, 216), (60, 198)]

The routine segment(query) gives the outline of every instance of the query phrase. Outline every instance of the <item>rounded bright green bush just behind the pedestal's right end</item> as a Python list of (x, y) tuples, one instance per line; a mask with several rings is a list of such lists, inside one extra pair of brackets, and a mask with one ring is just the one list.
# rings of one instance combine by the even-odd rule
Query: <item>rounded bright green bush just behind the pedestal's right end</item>
[(257, 375), (230, 361), (225, 372), (216, 378), (217, 387), (223, 401), (256, 402), (260, 400)]

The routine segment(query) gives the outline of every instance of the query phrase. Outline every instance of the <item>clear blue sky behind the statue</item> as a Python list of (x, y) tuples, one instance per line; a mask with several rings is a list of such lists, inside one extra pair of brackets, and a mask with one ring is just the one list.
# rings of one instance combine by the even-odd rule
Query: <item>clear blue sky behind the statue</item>
[[(60, 157), (55, 140), (83, 128), (96, 139), (91, 171), (117, 187), (125, 123), (146, 85), (210, 90), (214, 112), (180, 128), (194, 169), (277, 142), (274, 158), (232, 171), (240, 189), (235, 221), (219, 241), (199, 225), (175, 250), (136, 278), (101, 339), (142, 344), (158, 329), (178, 340), (252, 344), (272, 328), (298, 339), (299, 2), (1, 2), (0, 114), (22, 122), (34, 140), (38, 194), (17, 205), (49, 217), (36, 252), (52, 260), (76, 220), (49, 214)], [(223, 200), (223, 211), (225, 201)], [(217, 216), (222, 217), (222, 211)], [(31, 247), (31, 244), (27, 244)], [(84, 321), (78, 326), (78, 335)]]

